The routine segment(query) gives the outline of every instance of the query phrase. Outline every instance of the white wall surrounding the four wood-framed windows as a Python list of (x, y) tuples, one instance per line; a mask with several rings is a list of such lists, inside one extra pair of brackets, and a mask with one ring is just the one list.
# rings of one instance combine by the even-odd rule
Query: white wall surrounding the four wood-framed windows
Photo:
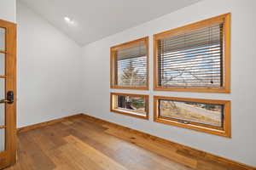
[[(84, 46), (84, 111), (109, 122), (116, 122), (199, 150), (206, 150), (218, 156), (256, 166), (256, 93), (254, 89), (256, 80), (253, 78), (256, 62), (254, 53), (255, 7), (255, 0), (205, 0)], [(231, 94), (154, 92), (152, 35), (229, 12), (232, 13)], [(150, 36), (150, 90), (109, 89), (109, 48), (148, 35)], [(149, 94), (150, 120), (145, 121), (110, 113), (110, 92)], [(232, 100), (232, 139), (153, 122), (153, 95)]]

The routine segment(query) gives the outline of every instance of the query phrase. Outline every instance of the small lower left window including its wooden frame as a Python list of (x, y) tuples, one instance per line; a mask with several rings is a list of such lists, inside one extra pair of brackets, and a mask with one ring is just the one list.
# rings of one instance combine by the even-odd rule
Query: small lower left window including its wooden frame
[(148, 119), (148, 95), (111, 93), (110, 111)]

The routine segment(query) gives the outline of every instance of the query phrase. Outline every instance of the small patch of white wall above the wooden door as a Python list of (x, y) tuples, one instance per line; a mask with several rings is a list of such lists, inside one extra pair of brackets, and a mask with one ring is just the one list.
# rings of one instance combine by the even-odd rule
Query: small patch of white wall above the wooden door
[(16, 0), (0, 1), (0, 20), (16, 22)]

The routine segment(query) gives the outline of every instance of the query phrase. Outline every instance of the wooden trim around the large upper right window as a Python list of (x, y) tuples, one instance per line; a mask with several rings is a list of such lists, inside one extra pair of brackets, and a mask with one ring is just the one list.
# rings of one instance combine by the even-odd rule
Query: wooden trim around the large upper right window
[[(158, 45), (157, 41), (163, 37), (168, 37), (175, 34), (180, 34), (185, 31), (191, 31), (203, 26), (209, 26), (212, 24), (224, 23), (224, 73), (223, 73), (223, 87), (222, 88), (193, 88), (193, 87), (168, 87), (163, 88), (158, 85)], [(155, 91), (176, 91), (176, 92), (200, 92), (200, 93), (221, 93), (230, 94), (230, 13), (222, 14), (217, 17), (213, 17), (207, 20), (201, 20), (187, 26), (178, 27), (170, 31), (160, 32), (154, 34), (154, 90)]]

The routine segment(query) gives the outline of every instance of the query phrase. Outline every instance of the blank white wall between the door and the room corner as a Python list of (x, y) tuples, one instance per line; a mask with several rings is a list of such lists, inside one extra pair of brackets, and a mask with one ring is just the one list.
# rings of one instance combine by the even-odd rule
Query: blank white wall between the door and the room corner
[(82, 48), (17, 3), (18, 127), (79, 111)]

